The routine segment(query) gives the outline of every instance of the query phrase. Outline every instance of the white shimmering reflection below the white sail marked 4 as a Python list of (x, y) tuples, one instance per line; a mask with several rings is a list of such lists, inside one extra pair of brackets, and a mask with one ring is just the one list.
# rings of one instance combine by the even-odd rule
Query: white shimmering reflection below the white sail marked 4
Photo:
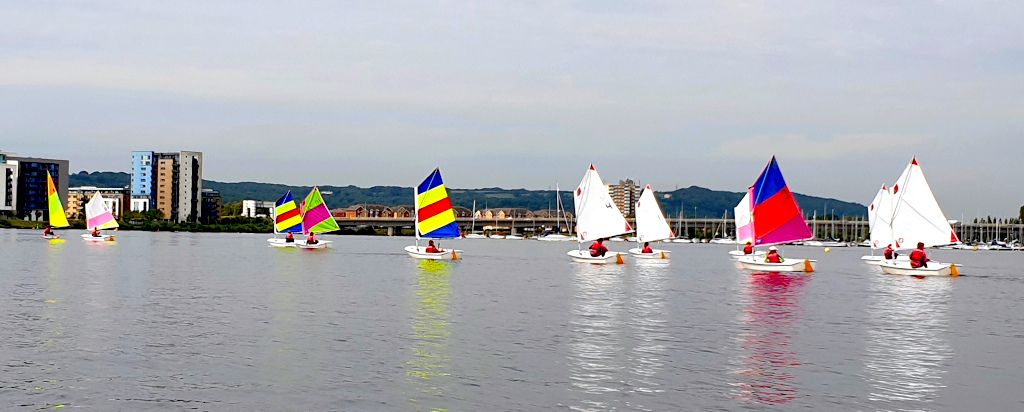
[(573, 410), (616, 409), (625, 385), (623, 342), (623, 266), (580, 265), (572, 279), (569, 373), (574, 392), (581, 394)]

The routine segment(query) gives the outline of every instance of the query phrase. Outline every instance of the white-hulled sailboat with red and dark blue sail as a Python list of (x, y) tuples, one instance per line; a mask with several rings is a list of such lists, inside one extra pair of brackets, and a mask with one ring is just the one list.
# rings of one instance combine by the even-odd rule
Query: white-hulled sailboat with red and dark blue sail
[[(807, 220), (804, 220), (800, 205), (782, 178), (774, 156), (750, 189), (750, 194), (754, 220), (752, 236), (756, 246), (779, 245), (814, 237)], [(772, 263), (758, 256), (743, 256), (738, 260), (745, 270), (764, 272), (814, 272), (817, 264), (817, 260), (795, 258)]]

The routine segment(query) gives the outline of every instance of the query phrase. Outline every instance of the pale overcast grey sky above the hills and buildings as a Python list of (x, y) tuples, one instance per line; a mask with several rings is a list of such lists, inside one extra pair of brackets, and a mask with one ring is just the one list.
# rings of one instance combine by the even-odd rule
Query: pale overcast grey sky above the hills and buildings
[(0, 0), (0, 150), (412, 187), (798, 193), (918, 157), (947, 217), (1024, 205), (1024, 2)]

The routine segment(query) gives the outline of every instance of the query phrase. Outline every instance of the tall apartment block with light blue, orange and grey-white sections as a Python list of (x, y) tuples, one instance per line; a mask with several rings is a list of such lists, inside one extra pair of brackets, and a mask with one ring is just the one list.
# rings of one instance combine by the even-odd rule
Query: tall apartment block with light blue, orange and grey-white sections
[(203, 153), (132, 152), (131, 210), (159, 209), (171, 221), (203, 216)]

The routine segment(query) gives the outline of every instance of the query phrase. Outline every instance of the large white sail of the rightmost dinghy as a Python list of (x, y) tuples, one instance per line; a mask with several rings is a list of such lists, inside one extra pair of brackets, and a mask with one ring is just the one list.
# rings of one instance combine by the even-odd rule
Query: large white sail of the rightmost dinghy
[[(914, 158), (892, 188), (892, 237), (897, 248), (925, 247), (959, 242), (939, 208), (925, 172)], [(878, 218), (878, 217), (876, 217)]]

